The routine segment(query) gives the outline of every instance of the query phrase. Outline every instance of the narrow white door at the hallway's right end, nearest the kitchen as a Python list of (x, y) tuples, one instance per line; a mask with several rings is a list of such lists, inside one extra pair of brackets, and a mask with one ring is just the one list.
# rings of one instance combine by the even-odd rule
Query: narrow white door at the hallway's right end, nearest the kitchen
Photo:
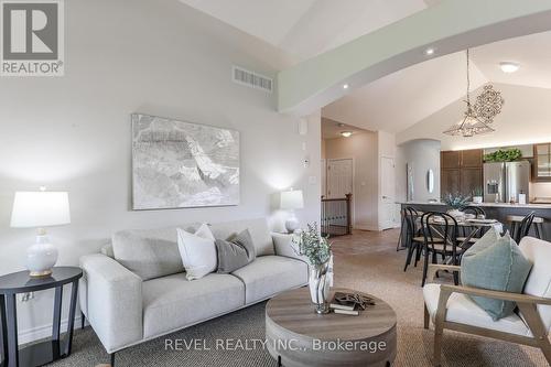
[(380, 229), (388, 229), (395, 227), (396, 222), (396, 166), (395, 159), (390, 156), (382, 156), (380, 173), (380, 203), (379, 206), (379, 227)]

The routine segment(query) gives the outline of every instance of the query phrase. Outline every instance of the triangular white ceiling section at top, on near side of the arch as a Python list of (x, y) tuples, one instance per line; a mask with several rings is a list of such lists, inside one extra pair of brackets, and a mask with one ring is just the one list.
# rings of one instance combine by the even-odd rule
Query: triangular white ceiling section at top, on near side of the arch
[(180, 0), (303, 61), (440, 0)]

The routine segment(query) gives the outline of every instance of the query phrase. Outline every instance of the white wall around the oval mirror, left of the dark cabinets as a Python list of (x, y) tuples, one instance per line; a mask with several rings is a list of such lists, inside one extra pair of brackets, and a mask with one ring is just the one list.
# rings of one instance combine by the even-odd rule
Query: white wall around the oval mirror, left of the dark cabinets
[[(413, 170), (413, 201), (426, 202), (440, 199), (440, 141), (421, 139), (403, 143), (397, 148), (397, 198), (402, 202), (408, 197), (406, 166)], [(434, 172), (434, 192), (426, 187), (426, 173)]]

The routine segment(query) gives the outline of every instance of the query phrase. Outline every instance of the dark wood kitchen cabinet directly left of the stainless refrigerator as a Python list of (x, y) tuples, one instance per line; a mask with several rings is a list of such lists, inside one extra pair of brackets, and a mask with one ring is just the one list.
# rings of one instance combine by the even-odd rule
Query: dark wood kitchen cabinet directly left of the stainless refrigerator
[(460, 193), (471, 196), (483, 187), (483, 150), (443, 151), (440, 154), (440, 191), (442, 196)]

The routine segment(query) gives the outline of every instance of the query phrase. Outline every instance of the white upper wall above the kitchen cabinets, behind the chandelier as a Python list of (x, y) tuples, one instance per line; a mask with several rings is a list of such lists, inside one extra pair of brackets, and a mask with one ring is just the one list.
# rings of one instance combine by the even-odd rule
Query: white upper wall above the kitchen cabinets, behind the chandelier
[[(442, 141), (442, 150), (506, 147), (551, 141), (551, 89), (495, 84), (505, 99), (494, 122), (495, 132), (472, 138), (449, 137), (442, 131), (460, 121), (465, 111), (464, 98), (442, 108), (398, 133), (397, 143), (414, 139)], [(480, 88), (472, 95), (477, 96)]]

